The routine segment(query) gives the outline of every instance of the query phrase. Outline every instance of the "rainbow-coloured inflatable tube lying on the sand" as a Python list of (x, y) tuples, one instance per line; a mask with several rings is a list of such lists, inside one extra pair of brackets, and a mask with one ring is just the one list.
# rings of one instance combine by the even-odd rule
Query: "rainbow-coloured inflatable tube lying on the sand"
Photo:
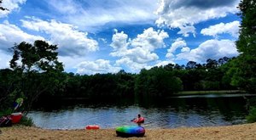
[(119, 126), (115, 130), (118, 137), (143, 137), (145, 134), (143, 126)]

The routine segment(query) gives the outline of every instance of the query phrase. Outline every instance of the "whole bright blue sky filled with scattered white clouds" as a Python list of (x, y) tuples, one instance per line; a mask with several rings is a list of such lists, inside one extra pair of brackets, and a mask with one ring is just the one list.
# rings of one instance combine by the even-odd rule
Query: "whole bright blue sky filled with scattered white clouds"
[(3, 0), (0, 69), (15, 43), (58, 46), (66, 72), (138, 73), (234, 57), (240, 0)]

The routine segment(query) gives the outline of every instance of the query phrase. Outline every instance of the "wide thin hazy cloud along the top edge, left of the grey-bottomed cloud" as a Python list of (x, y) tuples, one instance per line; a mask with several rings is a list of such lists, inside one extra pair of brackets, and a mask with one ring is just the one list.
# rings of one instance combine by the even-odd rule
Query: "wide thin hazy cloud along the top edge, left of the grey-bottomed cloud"
[[(45, 0), (65, 22), (86, 31), (97, 30), (108, 23), (152, 23), (157, 16), (157, 0)], [(58, 18), (58, 17), (56, 17)]]

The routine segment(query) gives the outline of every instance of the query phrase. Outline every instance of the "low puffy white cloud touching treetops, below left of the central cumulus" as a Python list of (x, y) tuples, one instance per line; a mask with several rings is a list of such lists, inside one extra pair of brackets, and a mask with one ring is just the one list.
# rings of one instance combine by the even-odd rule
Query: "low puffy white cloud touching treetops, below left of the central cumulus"
[(120, 67), (113, 67), (109, 60), (97, 59), (96, 61), (84, 61), (77, 65), (77, 73), (94, 75), (96, 73), (116, 73)]

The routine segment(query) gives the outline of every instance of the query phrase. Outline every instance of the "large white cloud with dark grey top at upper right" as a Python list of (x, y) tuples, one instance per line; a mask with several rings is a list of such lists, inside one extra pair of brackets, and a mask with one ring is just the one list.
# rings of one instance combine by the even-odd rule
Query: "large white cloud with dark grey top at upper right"
[[(155, 23), (159, 26), (166, 25), (170, 28), (193, 26), (201, 21), (225, 17), (227, 14), (235, 14), (239, 0), (160, 0), (160, 6), (156, 10), (159, 16)], [(195, 29), (189, 29), (194, 33)], [(188, 36), (189, 31), (183, 35)]]

